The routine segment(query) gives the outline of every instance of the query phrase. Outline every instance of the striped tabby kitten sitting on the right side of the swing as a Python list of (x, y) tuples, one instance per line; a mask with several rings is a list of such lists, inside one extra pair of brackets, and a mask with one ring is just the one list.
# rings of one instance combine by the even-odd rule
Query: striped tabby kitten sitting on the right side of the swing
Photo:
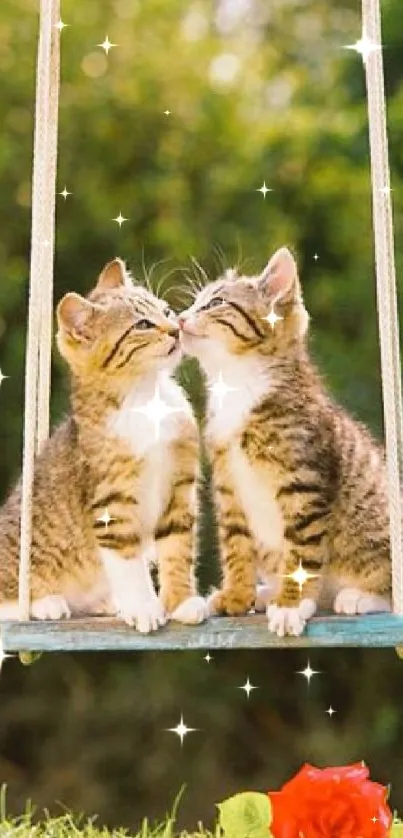
[[(180, 325), (209, 388), (223, 570), (211, 611), (267, 607), (270, 631), (283, 636), (301, 634), (318, 604), (389, 610), (383, 450), (324, 391), (291, 253), (277, 251), (260, 276), (227, 272)], [(291, 578), (300, 565), (312, 574), (302, 592)]]

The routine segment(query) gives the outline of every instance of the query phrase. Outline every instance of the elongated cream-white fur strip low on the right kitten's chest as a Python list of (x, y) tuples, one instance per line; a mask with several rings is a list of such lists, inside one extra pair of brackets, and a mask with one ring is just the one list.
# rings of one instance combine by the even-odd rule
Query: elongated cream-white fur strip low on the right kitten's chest
[(229, 449), (229, 466), (248, 526), (257, 543), (267, 550), (281, 549), (284, 521), (267, 471), (252, 467), (235, 442)]

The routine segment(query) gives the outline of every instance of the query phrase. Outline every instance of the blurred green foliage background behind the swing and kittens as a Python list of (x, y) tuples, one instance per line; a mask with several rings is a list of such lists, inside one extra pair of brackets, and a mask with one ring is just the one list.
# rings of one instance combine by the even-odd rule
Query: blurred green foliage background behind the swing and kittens
[[(0, 494), (21, 461), (37, 4), (0, 5)], [(401, 273), (403, 28), (383, 0), (384, 60)], [(55, 299), (85, 293), (103, 262), (169, 260), (185, 285), (194, 256), (260, 270), (287, 243), (311, 314), (312, 351), (335, 396), (382, 433), (365, 85), (342, 49), (360, 36), (355, 0), (65, 0)], [(96, 46), (108, 33), (109, 57)], [(171, 113), (166, 115), (164, 112)], [(256, 190), (273, 189), (266, 199)], [(122, 212), (121, 229), (112, 219)], [(319, 259), (314, 255), (318, 253)], [(180, 289), (168, 291), (181, 305)], [(184, 374), (197, 408), (194, 366)], [(67, 406), (54, 359), (52, 415)], [(206, 491), (207, 497), (207, 491)], [(207, 515), (202, 577), (214, 576)], [(7, 662), (0, 681), (0, 782), (97, 811), (159, 817), (184, 780), (183, 819), (212, 818), (241, 788), (274, 788), (305, 760), (366, 759), (403, 808), (403, 666), (393, 651), (48, 655)], [(259, 684), (249, 701), (236, 687)], [(329, 720), (329, 703), (337, 714)], [(200, 731), (179, 741), (179, 720)], [(394, 788), (396, 791), (394, 792)], [(394, 792), (394, 794), (393, 794)]]

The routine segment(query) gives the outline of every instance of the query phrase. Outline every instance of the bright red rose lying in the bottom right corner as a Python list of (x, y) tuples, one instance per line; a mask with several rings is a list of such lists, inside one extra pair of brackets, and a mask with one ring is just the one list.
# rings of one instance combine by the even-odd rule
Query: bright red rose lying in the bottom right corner
[(269, 792), (274, 838), (387, 838), (386, 788), (368, 777), (363, 763), (304, 765), (281, 791)]

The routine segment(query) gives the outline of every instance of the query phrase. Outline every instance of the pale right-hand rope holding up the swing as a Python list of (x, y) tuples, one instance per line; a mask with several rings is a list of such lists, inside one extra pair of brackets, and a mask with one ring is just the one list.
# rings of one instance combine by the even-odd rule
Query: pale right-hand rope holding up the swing
[[(363, 33), (381, 44), (380, 0), (363, 0)], [(372, 204), (375, 232), (376, 288), (386, 464), (388, 475), (393, 607), (403, 614), (403, 414), (399, 350), (399, 320), (393, 244), (393, 217), (386, 128), (382, 50), (366, 61), (369, 139), (372, 170)]]

